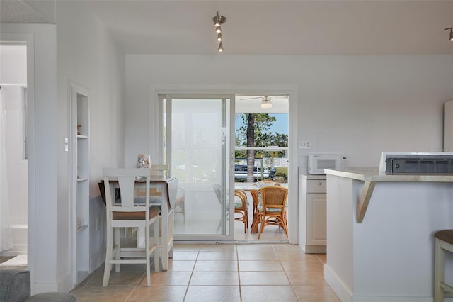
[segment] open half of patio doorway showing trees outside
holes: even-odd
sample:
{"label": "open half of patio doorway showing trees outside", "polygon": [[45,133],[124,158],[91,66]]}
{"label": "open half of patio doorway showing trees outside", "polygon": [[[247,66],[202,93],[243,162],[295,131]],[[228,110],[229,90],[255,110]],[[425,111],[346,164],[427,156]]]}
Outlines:
{"label": "open half of patio doorway showing trees outside", "polygon": [[[289,142],[288,95],[236,95],[234,187],[246,191],[248,230],[235,221],[234,240],[246,242],[287,242],[282,228],[266,226],[258,240],[256,205],[253,191],[260,186],[277,185],[288,188]],[[253,128],[253,129],[251,129]],[[253,173],[251,170],[253,166]],[[256,196],[255,196],[256,198]],[[241,213],[236,213],[236,218]],[[290,230],[289,230],[290,231]]]}

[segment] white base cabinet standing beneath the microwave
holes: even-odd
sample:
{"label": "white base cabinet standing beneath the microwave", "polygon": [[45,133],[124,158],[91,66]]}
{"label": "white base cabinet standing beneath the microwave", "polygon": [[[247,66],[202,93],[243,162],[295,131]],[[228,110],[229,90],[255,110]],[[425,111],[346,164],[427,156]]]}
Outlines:
{"label": "white base cabinet standing beneath the microwave", "polygon": [[325,253],[326,175],[299,175],[299,245],[306,253]]}

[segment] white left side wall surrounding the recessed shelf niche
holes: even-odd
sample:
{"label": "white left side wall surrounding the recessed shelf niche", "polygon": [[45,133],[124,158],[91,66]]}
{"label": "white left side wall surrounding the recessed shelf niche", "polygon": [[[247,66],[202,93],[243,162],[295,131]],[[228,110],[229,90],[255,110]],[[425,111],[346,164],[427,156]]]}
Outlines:
{"label": "white left side wall surrounding the recessed shelf niche", "polygon": [[[103,167],[121,167],[124,159],[125,54],[103,25],[81,6],[57,1],[58,99],[58,252],[57,275],[69,274],[69,80],[90,94],[90,264],[96,269],[105,257],[105,206],[98,181]],[[99,228],[96,229],[96,220]]]}

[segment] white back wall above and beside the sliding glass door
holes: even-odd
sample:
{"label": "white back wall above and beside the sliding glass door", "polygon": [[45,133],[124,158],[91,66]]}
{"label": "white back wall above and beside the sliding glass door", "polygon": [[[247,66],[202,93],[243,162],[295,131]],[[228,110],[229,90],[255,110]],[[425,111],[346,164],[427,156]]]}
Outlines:
{"label": "white back wall above and beside the sliding glass door", "polygon": [[[311,140],[309,151],[343,152],[350,166],[377,167],[382,151],[442,149],[453,55],[127,55],[127,165],[155,137],[150,87],[170,84],[295,86],[298,98],[289,101],[299,103],[298,112],[289,114],[297,140]],[[295,148],[297,165],[306,164],[306,152]]]}

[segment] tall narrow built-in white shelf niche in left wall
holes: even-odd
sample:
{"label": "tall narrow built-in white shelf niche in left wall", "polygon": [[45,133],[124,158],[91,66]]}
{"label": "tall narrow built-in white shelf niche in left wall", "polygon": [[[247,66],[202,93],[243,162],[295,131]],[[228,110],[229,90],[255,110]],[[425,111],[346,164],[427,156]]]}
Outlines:
{"label": "tall narrow built-in white shelf niche in left wall", "polygon": [[89,205],[89,95],[87,89],[70,83],[71,104],[71,225],[73,285],[91,273]]}

